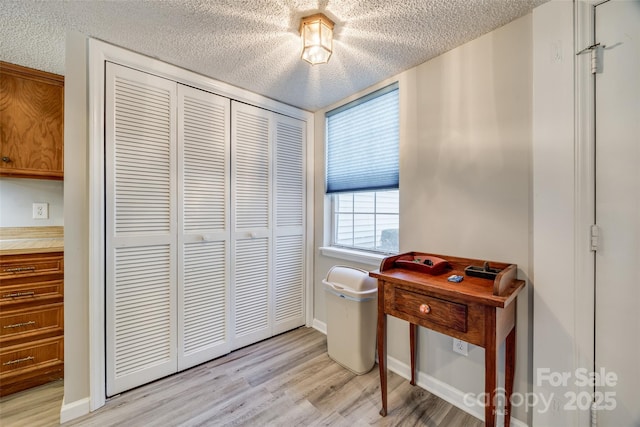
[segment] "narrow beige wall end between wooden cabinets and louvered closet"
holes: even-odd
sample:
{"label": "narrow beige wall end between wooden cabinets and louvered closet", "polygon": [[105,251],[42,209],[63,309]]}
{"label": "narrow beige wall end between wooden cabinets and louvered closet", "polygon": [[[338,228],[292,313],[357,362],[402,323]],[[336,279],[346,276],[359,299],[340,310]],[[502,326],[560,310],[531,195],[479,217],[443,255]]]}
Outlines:
{"label": "narrow beige wall end between wooden cabinets and louvered closet", "polygon": [[64,401],[60,421],[89,412],[89,163],[86,37],[67,33],[64,158]]}

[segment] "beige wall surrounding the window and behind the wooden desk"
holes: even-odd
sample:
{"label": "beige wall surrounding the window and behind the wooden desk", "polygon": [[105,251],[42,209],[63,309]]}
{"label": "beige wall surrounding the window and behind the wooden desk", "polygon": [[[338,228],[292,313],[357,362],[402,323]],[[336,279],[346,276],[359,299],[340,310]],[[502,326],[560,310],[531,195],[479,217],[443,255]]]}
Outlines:
{"label": "beige wall surrounding the window and behind the wooden desk", "polygon": [[[401,251],[505,261],[518,264],[519,278],[532,276],[532,68],[527,15],[397,76]],[[323,236],[324,111],[316,123],[316,236]],[[326,320],[321,279],[328,267],[344,263],[316,257],[320,321]],[[528,293],[518,299],[520,393],[531,389]],[[388,337],[389,356],[408,364],[407,324],[391,323]],[[419,340],[418,369],[427,382],[445,383],[458,397],[484,391],[482,349],[457,355],[451,338],[424,329]],[[514,416],[529,418],[525,407],[515,407]]]}

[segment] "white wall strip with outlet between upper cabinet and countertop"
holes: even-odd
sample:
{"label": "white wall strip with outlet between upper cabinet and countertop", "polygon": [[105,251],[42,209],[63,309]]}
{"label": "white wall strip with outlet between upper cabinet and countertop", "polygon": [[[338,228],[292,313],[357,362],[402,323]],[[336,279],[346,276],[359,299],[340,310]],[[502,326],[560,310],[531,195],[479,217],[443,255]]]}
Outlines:
{"label": "white wall strip with outlet between upper cabinet and countertop", "polygon": [[[0,227],[59,226],[64,223],[63,182],[0,178]],[[33,203],[49,203],[49,219],[33,219]]]}

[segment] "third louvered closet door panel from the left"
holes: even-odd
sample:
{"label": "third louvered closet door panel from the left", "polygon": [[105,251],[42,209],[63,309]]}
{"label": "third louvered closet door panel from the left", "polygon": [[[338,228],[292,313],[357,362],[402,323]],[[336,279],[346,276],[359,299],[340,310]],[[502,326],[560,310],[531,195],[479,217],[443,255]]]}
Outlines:
{"label": "third louvered closet door panel from the left", "polygon": [[231,103],[232,347],[271,336],[271,113]]}

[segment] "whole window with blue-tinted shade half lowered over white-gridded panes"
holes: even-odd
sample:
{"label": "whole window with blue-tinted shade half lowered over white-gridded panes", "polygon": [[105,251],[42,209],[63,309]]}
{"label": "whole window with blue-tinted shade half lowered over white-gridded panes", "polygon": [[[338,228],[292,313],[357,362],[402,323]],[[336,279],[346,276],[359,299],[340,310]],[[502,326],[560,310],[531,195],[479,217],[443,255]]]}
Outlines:
{"label": "whole window with blue-tinted shade half lowered over white-gridded panes", "polygon": [[326,120],[331,245],[398,252],[397,83],[329,111]]}

